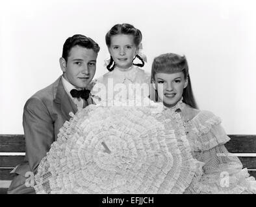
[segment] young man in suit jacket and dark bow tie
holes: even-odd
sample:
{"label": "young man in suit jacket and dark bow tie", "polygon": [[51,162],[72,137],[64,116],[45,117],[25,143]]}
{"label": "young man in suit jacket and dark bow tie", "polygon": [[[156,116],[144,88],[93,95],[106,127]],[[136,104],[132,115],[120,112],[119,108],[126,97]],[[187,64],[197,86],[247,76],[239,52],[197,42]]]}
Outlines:
{"label": "young man in suit jacket and dark bow tie", "polygon": [[35,193],[31,175],[36,174],[40,161],[57,140],[60,127],[70,120],[70,112],[76,113],[77,107],[92,103],[88,86],[96,72],[98,52],[99,45],[91,38],[80,34],[68,38],[60,58],[62,76],[25,103],[26,155],[24,162],[11,172],[16,176],[8,193]]}

